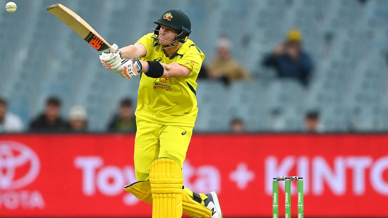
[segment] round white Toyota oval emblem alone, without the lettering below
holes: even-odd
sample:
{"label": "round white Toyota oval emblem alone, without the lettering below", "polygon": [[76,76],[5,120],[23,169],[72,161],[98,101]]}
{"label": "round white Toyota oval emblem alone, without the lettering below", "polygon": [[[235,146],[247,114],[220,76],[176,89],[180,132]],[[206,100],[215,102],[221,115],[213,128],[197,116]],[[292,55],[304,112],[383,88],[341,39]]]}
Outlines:
{"label": "round white Toyota oval emblem alone, without the lettering below", "polygon": [[0,141],[0,190],[29,185],[39,170],[39,158],[32,149],[17,142]]}

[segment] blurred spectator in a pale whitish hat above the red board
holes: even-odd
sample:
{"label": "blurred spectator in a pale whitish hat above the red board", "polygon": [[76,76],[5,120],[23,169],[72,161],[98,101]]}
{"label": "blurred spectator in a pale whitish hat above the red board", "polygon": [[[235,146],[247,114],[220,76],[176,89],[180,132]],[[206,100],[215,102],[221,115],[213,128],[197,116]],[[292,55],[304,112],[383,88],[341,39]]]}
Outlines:
{"label": "blurred spectator in a pale whitish hat above the red board", "polygon": [[87,114],[85,108],[74,106],[69,112],[69,132],[85,133],[87,132]]}

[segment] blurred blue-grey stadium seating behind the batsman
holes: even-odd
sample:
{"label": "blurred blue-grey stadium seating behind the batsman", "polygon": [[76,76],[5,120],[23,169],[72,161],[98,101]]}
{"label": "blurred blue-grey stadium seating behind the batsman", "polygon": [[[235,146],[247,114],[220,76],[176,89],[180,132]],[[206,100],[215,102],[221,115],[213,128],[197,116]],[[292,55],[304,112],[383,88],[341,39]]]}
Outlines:
{"label": "blurred blue-grey stadium seating behind the batsman", "polygon": [[[139,80],[122,79],[100,66],[98,52],[46,11],[51,3],[20,1],[14,14],[0,10],[0,47],[7,63],[0,69],[0,96],[28,124],[45,99],[56,95],[64,117],[71,106],[84,106],[89,130],[104,131],[123,97],[136,103]],[[61,3],[120,47],[149,33],[153,21],[170,8],[190,16],[190,38],[206,54],[205,63],[215,57],[218,36],[229,36],[233,56],[248,67],[251,80],[229,87],[198,80],[195,131],[229,131],[233,118],[241,118],[249,132],[303,131],[305,112],[312,109],[320,112],[325,131],[388,131],[386,0]],[[308,88],[278,80],[260,64],[294,27],[302,31],[304,48],[315,63]]]}

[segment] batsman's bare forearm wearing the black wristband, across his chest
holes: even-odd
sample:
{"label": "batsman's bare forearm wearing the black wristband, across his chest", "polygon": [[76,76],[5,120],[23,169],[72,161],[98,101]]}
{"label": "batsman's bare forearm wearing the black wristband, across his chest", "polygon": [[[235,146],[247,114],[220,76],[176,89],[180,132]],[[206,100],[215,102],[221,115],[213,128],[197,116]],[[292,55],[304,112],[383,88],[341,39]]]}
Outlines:
{"label": "batsman's bare forearm wearing the black wristband, across his chest", "polygon": [[[191,69],[178,64],[164,64],[156,61],[140,61],[142,64],[142,72],[153,78],[178,78],[189,76]],[[159,76],[159,77],[157,77]]]}

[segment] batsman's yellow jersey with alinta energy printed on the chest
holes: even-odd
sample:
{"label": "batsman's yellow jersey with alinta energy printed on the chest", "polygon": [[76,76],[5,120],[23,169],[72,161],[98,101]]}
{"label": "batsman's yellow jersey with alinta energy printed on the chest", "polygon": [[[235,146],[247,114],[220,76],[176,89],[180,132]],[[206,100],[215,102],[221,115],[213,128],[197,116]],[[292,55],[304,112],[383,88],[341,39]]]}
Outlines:
{"label": "batsman's yellow jersey with alinta energy printed on the chest", "polygon": [[[163,49],[154,48],[157,40],[153,33],[137,41],[147,48],[143,61],[176,62],[191,69],[189,76],[182,78],[151,78],[140,73],[140,86],[135,115],[141,119],[161,125],[194,127],[197,118],[196,79],[205,55],[187,39],[176,55],[166,57]],[[158,44],[156,44],[158,45]],[[161,47],[158,45],[158,47]]]}

